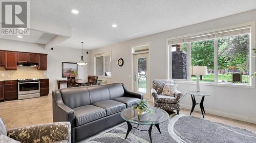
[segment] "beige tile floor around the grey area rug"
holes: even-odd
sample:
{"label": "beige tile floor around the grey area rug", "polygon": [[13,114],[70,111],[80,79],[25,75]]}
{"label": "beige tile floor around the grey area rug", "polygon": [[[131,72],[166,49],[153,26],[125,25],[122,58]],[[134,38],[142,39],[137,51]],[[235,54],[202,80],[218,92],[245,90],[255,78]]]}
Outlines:
{"label": "beige tile floor around the grey area rug", "polygon": [[[152,103],[150,104],[152,105]],[[180,113],[189,114],[190,110],[181,109]],[[202,114],[197,111],[194,111],[192,115],[195,117],[202,117]],[[34,99],[0,102],[0,117],[3,118],[7,129],[51,123],[52,96],[49,94],[49,96]],[[207,110],[205,120],[247,129],[256,133],[256,124],[207,114]]]}

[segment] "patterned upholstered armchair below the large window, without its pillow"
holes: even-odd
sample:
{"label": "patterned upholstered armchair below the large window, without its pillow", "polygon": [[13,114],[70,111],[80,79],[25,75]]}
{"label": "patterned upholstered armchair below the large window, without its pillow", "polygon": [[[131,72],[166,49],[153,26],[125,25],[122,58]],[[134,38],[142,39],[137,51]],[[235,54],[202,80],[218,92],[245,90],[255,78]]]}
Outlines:
{"label": "patterned upholstered armchair below the large window, without its pillow", "polygon": [[153,88],[151,94],[154,97],[154,106],[167,111],[176,110],[177,114],[180,112],[180,98],[182,93],[175,91],[173,96],[162,95],[163,87],[166,83],[174,84],[173,80],[153,80]]}

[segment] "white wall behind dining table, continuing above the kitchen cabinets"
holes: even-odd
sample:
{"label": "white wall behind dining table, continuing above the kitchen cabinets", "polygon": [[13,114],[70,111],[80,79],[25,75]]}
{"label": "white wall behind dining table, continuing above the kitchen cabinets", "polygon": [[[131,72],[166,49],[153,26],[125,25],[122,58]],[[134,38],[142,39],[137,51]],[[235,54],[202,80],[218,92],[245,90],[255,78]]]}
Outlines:
{"label": "white wall behind dining table, continuing above the kitchen cabinets", "polygon": [[[71,49],[66,47],[54,47],[54,50],[46,50],[44,44],[36,44],[29,42],[21,42],[14,40],[0,39],[0,50],[20,51],[20,52],[34,52],[48,54],[47,62],[47,78],[50,81],[50,93],[57,89],[57,79],[61,78],[62,62],[78,62],[81,58],[80,49]],[[89,54],[83,51],[84,58],[89,62]],[[78,66],[79,79],[87,78],[89,72],[89,65]],[[29,73],[28,73],[29,74]]]}

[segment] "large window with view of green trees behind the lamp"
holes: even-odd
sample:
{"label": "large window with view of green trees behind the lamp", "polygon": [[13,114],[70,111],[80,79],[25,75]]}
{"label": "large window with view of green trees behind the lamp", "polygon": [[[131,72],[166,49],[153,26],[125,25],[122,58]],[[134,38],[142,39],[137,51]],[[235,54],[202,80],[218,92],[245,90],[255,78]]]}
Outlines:
{"label": "large window with view of green trees behind the lamp", "polygon": [[200,81],[250,84],[250,36],[246,26],[169,40],[169,77],[196,81],[190,68],[198,65],[207,66]]}

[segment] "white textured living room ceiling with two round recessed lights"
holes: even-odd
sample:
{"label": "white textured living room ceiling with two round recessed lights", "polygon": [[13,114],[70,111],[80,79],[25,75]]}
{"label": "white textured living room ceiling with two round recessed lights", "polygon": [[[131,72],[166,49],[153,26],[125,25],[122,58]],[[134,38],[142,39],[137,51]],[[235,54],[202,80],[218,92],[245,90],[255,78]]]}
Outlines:
{"label": "white textured living room ceiling with two round recessed lights", "polygon": [[[59,46],[95,49],[256,9],[255,0],[33,0],[33,18],[72,28]],[[72,9],[79,14],[71,13]],[[112,28],[113,23],[117,28]]]}

